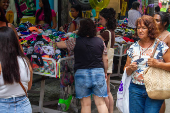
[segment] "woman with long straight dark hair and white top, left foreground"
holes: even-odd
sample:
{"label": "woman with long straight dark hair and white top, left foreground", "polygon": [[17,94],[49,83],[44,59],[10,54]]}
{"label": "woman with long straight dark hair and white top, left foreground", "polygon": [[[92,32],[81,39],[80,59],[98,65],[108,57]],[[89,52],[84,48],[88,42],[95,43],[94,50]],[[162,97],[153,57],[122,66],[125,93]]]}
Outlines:
{"label": "woman with long straight dark hair and white top, left foreground", "polygon": [[32,113],[27,90],[32,68],[10,27],[0,27],[0,113]]}

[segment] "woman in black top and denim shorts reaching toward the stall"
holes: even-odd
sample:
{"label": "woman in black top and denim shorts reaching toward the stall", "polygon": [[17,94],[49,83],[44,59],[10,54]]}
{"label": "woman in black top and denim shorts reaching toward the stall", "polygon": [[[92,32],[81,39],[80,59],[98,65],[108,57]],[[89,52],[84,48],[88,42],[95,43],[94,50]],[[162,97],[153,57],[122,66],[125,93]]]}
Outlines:
{"label": "woman in black top and denim shorts reaching toward the stall", "polygon": [[76,98],[81,99],[81,113],[91,113],[91,95],[99,113],[108,113],[107,49],[101,38],[96,37],[96,26],[91,19],[80,20],[78,38],[56,43],[59,48],[74,50]]}

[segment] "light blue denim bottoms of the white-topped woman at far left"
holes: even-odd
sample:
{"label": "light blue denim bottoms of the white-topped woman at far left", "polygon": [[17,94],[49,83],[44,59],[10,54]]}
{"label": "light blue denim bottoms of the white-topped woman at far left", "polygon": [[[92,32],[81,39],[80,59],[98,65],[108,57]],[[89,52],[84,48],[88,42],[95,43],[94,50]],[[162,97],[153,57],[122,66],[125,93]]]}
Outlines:
{"label": "light blue denim bottoms of the white-topped woman at far left", "polygon": [[32,113],[32,108],[26,96],[0,98],[0,113]]}

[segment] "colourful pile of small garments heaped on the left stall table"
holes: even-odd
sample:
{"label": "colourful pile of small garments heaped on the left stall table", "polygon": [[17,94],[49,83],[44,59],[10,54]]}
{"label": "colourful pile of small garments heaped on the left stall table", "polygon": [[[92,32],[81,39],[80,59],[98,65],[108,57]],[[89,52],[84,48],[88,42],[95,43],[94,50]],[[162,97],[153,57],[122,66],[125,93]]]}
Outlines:
{"label": "colourful pile of small garments heaped on the left stall table", "polygon": [[46,74],[54,74],[55,66],[50,60],[43,60],[44,57],[57,62],[68,56],[67,49],[57,48],[56,42],[76,38],[73,33],[65,34],[48,25],[34,26],[29,22],[20,24],[16,30],[25,55],[33,62],[33,71]]}

